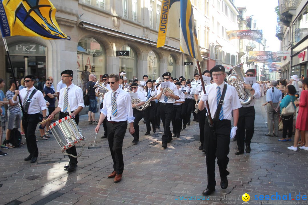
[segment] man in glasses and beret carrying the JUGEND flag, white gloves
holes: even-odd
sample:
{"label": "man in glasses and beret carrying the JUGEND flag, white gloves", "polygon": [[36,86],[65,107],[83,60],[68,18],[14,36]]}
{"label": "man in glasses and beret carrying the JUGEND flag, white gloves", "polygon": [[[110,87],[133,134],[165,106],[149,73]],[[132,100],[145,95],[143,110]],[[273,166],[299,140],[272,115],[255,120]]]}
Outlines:
{"label": "man in glasses and beret carrying the JUGEND flag, white gloves", "polygon": [[[229,144],[230,139],[233,139],[236,134],[238,109],[241,108],[241,102],[238,99],[237,92],[234,87],[224,83],[226,77],[225,67],[222,65],[215,65],[211,70],[213,80],[215,83],[205,87],[207,94],[202,93],[200,102],[198,104],[199,110],[206,108],[205,101],[208,101],[212,117],[214,116],[214,128],[209,126],[209,120],[205,121],[204,135],[206,147],[206,169],[208,185],[202,192],[203,195],[208,196],[215,191],[215,159],[219,167],[219,174],[221,178],[220,186],[222,189],[228,187],[227,165],[229,163]],[[221,95],[226,89],[224,100],[221,101]],[[222,104],[221,110],[217,115],[215,112],[217,106]],[[233,113],[233,125],[231,129],[231,112]],[[208,115],[208,114],[207,114]],[[209,116],[208,116],[209,118]],[[214,130],[214,131],[212,131]]]}

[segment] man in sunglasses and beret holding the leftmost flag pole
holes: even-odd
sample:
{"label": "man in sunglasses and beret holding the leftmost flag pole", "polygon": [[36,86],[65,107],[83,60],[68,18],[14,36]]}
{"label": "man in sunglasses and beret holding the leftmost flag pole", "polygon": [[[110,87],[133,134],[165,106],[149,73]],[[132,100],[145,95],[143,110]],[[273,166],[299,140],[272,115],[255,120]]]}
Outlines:
{"label": "man in sunglasses and beret holding the leftmost flag pole", "polygon": [[[21,105],[23,106],[24,112],[22,116],[22,126],[25,129],[25,137],[27,142],[27,148],[30,155],[24,160],[31,163],[37,161],[39,156],[39,149],[36,144],[35,129],[39,123],[39,114],[42,110],[43,120],[47,119],[46,116],[46,103],[43,93],[34,88],[35,77],[33,75],[27,75],[24,78],[25,88],[15,90],[13,97],[13,103],[18,103],[18,95],[20,94]],[[32,94],[34,93],[34,94]],[[44,127],[46,123],[42,124]]]}

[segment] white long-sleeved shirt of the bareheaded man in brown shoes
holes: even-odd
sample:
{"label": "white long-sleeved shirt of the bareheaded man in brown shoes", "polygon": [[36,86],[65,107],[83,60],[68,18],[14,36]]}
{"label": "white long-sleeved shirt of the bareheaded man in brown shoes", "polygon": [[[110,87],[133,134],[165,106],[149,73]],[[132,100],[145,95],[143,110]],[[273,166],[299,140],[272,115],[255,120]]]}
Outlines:
{"label": "white long-sleeved shirt of the bareheaded man in brown shoes", "polygon": [[129,123],[134,122],[132,100],[128,92],[118,88],[115,91],[117,115],[112,115],[112,90],[104,96],[103,108],[100,110],[104,116],[107,116],[108,121],[121,122],[128,120]]}

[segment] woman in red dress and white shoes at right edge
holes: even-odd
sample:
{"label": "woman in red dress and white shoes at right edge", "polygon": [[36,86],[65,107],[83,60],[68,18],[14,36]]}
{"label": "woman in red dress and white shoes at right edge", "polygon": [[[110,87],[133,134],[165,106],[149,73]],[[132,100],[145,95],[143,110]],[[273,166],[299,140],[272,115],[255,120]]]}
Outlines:
{"label": "woman in red dress and white shoes at right edge", "polygon": [[308,151],[308,78],[303,80],[303,91],[300,96],[299,102],[295,102],[296,106],[299,106],[298,116],[295,126],[294,145],[288,147],[288,149],[297,151],[297,143],[300,135],[300,131],[305,131],[305,145],[299,147],[300,149]]}

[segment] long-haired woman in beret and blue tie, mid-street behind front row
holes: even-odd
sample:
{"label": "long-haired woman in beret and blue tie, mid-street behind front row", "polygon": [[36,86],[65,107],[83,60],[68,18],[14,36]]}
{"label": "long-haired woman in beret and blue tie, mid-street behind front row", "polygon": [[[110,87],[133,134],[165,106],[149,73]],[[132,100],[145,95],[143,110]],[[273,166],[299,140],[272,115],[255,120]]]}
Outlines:
{"label": "long-haired woman in beret and blue tie, mid-street behind front row", "polygon": [[[145,96],[145,101],[148,101],[150,97],[155,95],[155,88],[153,85],[153,81],[150,79],[146,82],[146,87],[144,88],[143,94]],[[153,127],[153,132],[156,132],[156,126],[155,126],[155,108],[156,108],[156,103],[155,103],[156,97],[153,97],[152,100],[150,101],[151,106],[148,106],[144,110],[144,118],[146,121],[147,125],[147,132],[144,133],[144,135],[149,135],[151,131],[151,124]],[[135,129],[136,130],[136,129]]]}

